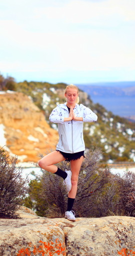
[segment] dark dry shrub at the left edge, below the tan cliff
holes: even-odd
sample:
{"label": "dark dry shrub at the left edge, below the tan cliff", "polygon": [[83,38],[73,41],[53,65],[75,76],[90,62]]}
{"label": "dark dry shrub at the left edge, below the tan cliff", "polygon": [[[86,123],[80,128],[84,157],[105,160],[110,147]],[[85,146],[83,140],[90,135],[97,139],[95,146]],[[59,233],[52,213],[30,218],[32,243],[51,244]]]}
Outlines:
{"label": "dark dry shrub at the left edge, below the tan cliff", "polygon": [[26,193],[27,178],[21,177],[22,169],[16,168],[16,157],[9,158],[0,149],[0,217],[16,218],[16,210],[22,205]]}

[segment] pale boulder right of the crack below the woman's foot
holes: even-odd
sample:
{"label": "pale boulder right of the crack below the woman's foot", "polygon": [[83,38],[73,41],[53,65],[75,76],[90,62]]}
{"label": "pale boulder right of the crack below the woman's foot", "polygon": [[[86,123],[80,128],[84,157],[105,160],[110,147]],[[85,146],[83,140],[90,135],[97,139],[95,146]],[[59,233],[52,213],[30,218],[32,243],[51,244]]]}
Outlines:
{"label": "pale boulder right of the crack below the woman's foot", "polygon": [[134,255],[134,245],[133,217],[84,218],[66,235],[67,256]]}

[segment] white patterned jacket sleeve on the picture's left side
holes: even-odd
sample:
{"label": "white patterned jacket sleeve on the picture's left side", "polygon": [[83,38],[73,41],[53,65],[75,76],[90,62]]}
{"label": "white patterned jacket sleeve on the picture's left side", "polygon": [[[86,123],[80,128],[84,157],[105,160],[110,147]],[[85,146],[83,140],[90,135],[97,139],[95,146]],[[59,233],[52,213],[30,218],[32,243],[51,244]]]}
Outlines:
{"label": "white patterned jacket sleeve on the picture's left side", "polygon": [[63,123],[64,117],[62,116],[61,109],[56,106],[49,115],[49,121],[54,123]]}

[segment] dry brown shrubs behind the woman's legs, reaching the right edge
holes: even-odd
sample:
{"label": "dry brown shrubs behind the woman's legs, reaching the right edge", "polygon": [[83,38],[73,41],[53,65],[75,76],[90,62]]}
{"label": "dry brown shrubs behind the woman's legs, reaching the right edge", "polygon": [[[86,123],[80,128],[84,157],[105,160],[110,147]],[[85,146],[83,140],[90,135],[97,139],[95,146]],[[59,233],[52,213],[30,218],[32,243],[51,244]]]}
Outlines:
{"label": "dry brown shrubs behind the woman's legs, reaching the right edge", "polygon": [[[75,216],[135,216],[135,174],[125,172],[122,177],[113,175],[108,166],[102,167],[100,157],[99,149],[87,150],[85,154],[73,205]],[[57,164],[57,167],[70,170],[70,164],[66,161]],[[45,205],[47,203],[44,216],[63,217],[67,206],[67,193],[65,186],[62,185],[63,179],[47,171],[42,170],[42,172],[42,176],[36,179],[41,188],[40,195],[39,188],[37,194],[39,198],[43,198]],[[42,214],[44,205],[39,205],[37,199],[34,203],[38,207],[38,212]]]}

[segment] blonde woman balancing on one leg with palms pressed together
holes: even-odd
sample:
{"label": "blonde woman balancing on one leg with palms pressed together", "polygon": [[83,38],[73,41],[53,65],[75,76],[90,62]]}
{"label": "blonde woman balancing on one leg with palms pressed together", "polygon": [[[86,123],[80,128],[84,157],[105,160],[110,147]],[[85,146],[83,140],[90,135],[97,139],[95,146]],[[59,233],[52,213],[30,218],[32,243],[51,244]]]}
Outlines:
{"label": "blonde woman balancing on one leg with palms pressed together", "polygon": [[[97,115],[88,107],[78,105],[78,88],[68,85],[64,96],[66,103],[57,105],[49,116],[49,121],[57,123],[59,141],[54,152],[39,160],[39,167],[64,179],[68,193],[65,218],[74,221],[75,214],[71,210],[77,191],[79,170],[84,158],[83,122],[95,122]],[[55,166],[63,160],[70,162],[71,171],[62,171]]]}

